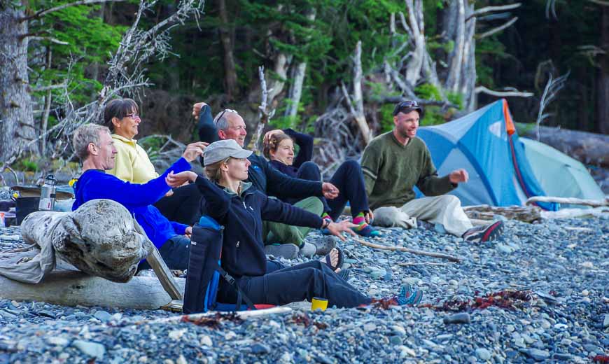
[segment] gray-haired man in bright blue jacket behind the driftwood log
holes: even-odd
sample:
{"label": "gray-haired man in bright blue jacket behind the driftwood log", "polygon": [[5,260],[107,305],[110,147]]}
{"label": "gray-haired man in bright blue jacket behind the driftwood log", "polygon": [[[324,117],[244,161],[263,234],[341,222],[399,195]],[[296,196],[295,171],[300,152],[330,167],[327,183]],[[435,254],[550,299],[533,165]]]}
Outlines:
{"label": "gray-haired man in bright blue jacket behind the driftwood log", "polygon": [[[76,201],[72,210],[90,200],[108,199],[122,204],[134,216],[144,232],[159,249],[160,255],[170,269],[187,269],[190,252],[189,236],[193,228],[167,220],[152,204],[171,190],[167,185],[169,172],[190,170],[190,163],[203,154],[201,142],[188,145],[182,158],[177,160],[164,174],[144,184],[129,183],[106,174],[114,166],[116,148],[107,127],[87,124],[74,132],[73,148],[83,161],[83,174],[74,186]],[[142,262],[141,268],[148,268]]]}

